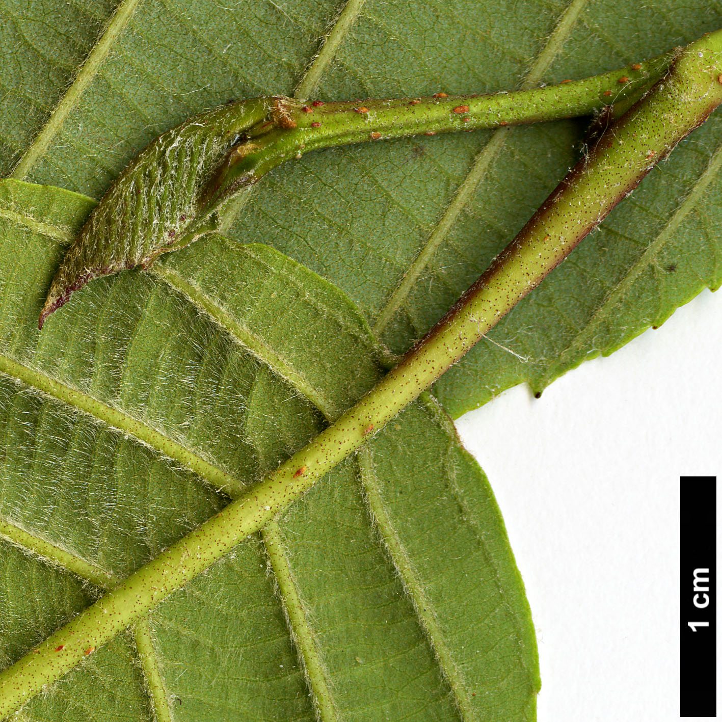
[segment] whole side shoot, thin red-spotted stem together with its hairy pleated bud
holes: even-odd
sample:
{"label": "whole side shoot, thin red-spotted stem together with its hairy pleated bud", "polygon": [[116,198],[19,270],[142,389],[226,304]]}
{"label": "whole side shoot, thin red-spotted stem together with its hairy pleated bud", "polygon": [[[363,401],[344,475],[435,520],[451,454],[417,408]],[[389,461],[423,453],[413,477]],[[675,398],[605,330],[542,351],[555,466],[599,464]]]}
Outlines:
{"label": "whole side shoot, thin red-spotted stem together with its hairy pleated bud", "polygon": [[291,158],[349,143],[589,115],[644,92],[672,58],[497,95],[307,105],[259,97],[191,118],[149,144],[110,186],[66,253],[38,327],[90,280],[147,269],[163,253],[219,230],[232,199]]}

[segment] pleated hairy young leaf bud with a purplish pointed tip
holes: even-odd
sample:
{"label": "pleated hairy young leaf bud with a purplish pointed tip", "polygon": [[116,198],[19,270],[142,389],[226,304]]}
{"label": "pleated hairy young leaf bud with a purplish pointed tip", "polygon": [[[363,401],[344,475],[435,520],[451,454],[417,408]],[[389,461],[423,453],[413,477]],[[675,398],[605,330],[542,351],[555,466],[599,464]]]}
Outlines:
{"label": "pleated hairy young leaf bud with a purplish pointed tip", "polygon": [[[223,105],[162,134],[110,186],[66,253],[38,326],[90,280],[147,267],[175,250],[198,221],[196,199],[239,134],[266,116],[270,99]],[[212,219],[209,219],[212,230]],[[200,230],[200,229],[199,229]]]}

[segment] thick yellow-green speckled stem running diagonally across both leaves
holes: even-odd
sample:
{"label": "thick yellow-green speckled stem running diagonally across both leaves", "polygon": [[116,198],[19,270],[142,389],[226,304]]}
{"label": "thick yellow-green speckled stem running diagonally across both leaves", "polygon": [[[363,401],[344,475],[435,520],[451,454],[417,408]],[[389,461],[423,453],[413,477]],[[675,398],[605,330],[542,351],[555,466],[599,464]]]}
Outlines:
{"label": "thick yellow-green speckled stem running diagonally across both leaves", "polygon": [[0,718],[262,529],[474,346],[722,101],[722,31],[600,137],[461,300],[372,391],[264,481],[0,673]]}

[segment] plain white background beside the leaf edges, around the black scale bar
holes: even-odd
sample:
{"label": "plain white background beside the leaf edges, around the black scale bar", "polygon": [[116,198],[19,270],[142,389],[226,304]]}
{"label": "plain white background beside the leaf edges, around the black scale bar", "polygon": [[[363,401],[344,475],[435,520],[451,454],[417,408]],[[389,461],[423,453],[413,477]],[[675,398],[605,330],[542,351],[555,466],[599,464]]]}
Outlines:
{"label": "plain white background beside the leaf edges, around the black scale bar", "polygon": [[679,477],[722,480],[721,368],[705,291],[541,399],[518,386],[458,420],[526,584],[539,722],[679,720]]}

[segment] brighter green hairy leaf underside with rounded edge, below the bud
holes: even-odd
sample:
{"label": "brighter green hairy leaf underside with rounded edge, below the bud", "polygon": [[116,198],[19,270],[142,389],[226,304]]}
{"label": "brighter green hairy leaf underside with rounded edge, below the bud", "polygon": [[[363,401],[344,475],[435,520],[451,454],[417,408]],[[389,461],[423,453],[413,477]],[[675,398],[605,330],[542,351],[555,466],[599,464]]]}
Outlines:
{"label": "brighter green hairy leaf underside with rounded edge, below the bud", "polygon": [[[222,236],[152,277],[96,281],[39,334],[92,206],[0,183],[0,533],[20,547],[0,547],[6,663],[221,508],[213,486],[233,494],[274,469],[380,375],[344,295]],[[24,713],[140,720],[165,700],[178,719],[291,719],[316,700],[324,719],[523,720],[536,669],[490,489],[429,397]]]}

